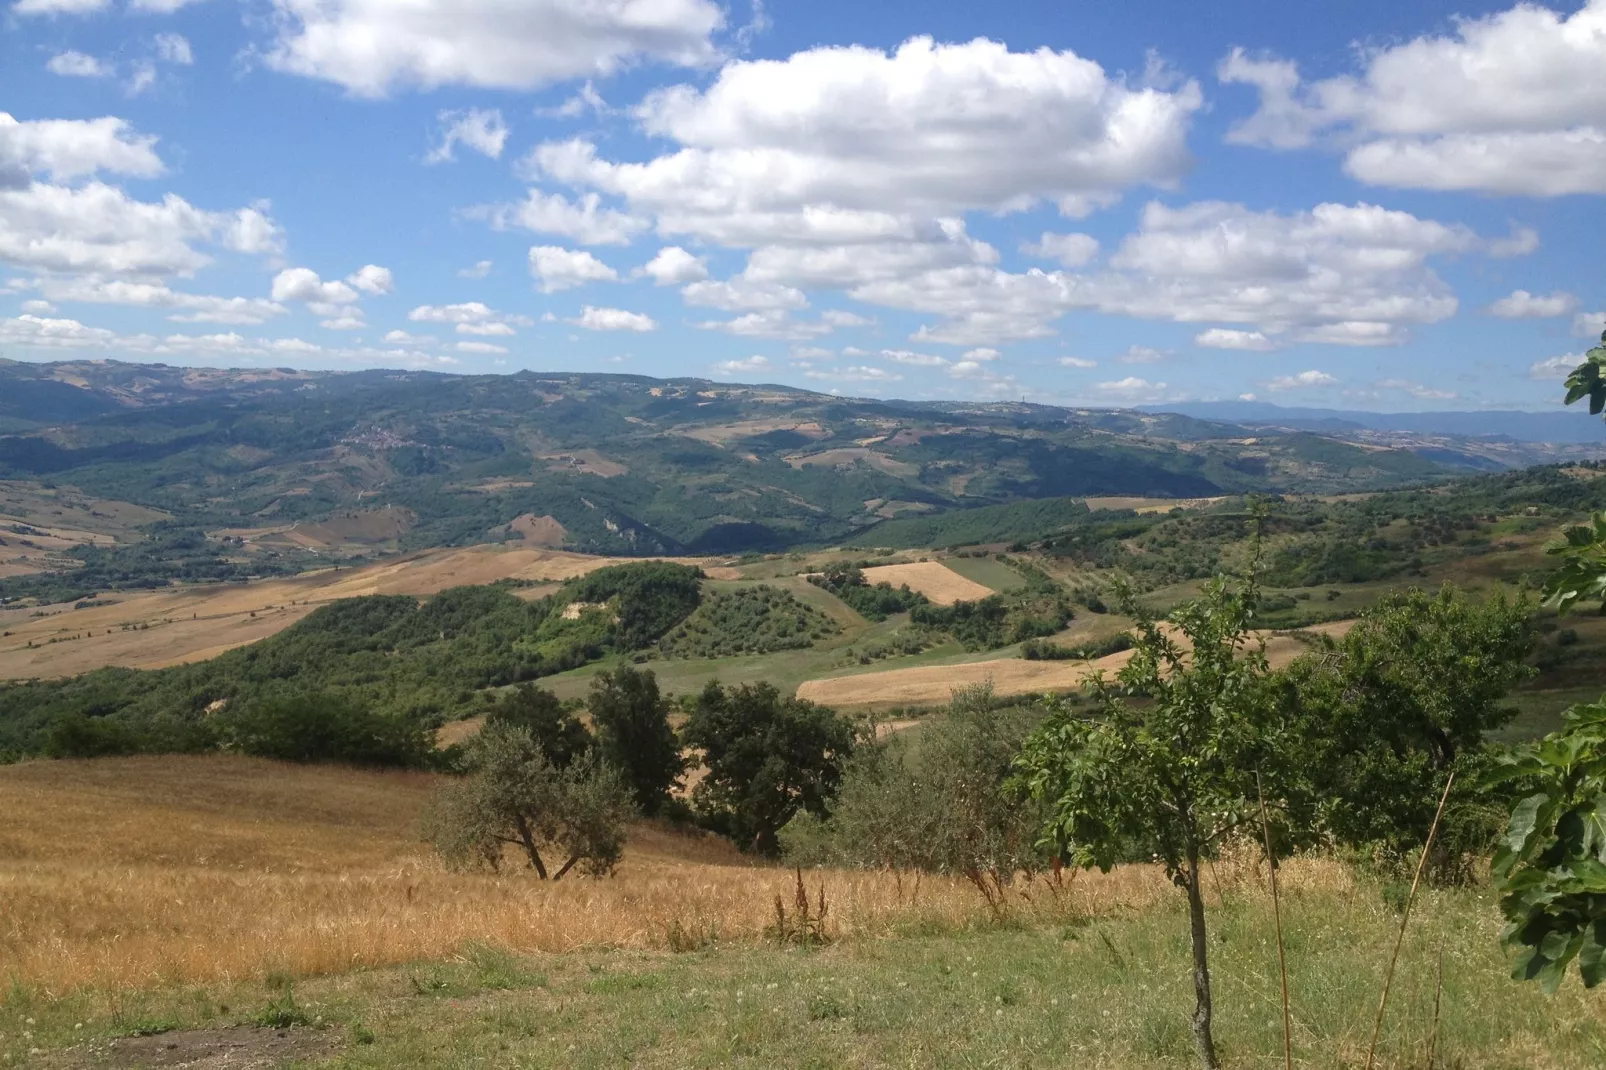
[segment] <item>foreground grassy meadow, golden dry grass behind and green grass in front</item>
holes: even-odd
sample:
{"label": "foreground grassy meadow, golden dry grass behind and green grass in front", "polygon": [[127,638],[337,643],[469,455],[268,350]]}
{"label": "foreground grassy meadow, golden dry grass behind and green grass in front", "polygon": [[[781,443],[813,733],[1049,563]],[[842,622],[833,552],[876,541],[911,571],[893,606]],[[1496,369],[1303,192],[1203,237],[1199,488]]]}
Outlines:
{"label": "foreground grassy meadow, golden dry grass behind and green grass in front", "polygon": [[[827,941],[789,946],[790,871],[660,826],[610,880],[448,874],[413,831],[430,789],[230,757],[0,770],[0,1064],[1193,1065],[1185,913],[1152,868],[999,913],[962,880],[806,871]],[[1397,895],[1333,860],[1280,874],[1296,1064],[1360,1067]],[[1264,864],[1211,877],[1225,1065],[1280,1065]],[[1497,930],[1487,890],[1425,893],[1378,1065],[1606,1062],[1606,996],[1508,980]]]}

